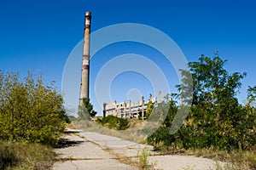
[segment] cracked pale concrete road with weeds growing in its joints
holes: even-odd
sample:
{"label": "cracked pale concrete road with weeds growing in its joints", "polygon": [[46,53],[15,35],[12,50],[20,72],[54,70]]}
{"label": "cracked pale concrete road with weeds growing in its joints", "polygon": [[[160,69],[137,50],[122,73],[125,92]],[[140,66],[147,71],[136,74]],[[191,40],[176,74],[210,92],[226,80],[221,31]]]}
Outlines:
{"label": "cracked pale concrete road with weeds growing in its joints", "polygon": [[216,167],[215,161],[210,159],[195,156],[159,156],[153,151],[153,146],[100,133],[69,130],[65,138],[66,144],[55,149],[59,154],[59,161],[55,162],[54,170],[139,169],[134,165],[137,165],[137,156],[143,148],[150,153],[148,165],[154,169],[206,170]]}

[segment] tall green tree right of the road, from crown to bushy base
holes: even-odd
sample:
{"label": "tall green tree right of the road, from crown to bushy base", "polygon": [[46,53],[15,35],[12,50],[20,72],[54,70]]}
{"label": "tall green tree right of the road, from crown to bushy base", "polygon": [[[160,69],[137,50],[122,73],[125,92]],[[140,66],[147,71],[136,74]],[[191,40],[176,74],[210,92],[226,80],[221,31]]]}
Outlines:
{"label": "tall green tree right of the road, from crown to bushy base", "polygon": [[244,144],[247,112],[238,103],[236,94],[246,73],[230,74],[224,69],[226,63],[218,52],[212,58],[201,55],[199,61],[189,63],[194,99],[187,122],[180,131],[187,147],[212,145],[225,149]]}

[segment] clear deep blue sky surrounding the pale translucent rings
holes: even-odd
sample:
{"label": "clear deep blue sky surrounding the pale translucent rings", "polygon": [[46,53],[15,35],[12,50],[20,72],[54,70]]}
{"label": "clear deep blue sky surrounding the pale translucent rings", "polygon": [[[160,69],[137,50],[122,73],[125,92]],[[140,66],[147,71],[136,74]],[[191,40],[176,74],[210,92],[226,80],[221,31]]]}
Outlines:
{"label": "clear deep blue sky surrounding the pale translucent rings", "polygon": [[[226,68],[230,73],[247,72],[238,94],[242,102],[247,86],[256,85],[255,6],[254,0],[1,0],[0,69],[19,71],[21,76],[31,70],[42,73],[47,82],[55,80],[61,91],[64,65],[83,38],[84,12],[91,11],[92,31],[119,23],[153,26],[172,37],[189,61],[195,61],[200,54],[212,56],[218,50],[229,60]],[[106,54],[98,55],[104,55],[108,61],[117,50],[119,54],[142,54],[145,49],[137,45],[140,51],[137,52],[134,45],[126,45],[126,48],[113,45]],[[91,62],[92,75],[98,61],[100,57]],[[134,74],[130,77],[137,77]],[[119,101],[125,96],[119,95],[122,90],[118,90],[124,86],[121,82],[128,83],[124,80],[116,77],[111,88],[119,92],[113,92],[112,96]],[[142,88],[141,84],[131,84],[128,88]],[[147,95],[144,93],[148,91],[142,93]]]}

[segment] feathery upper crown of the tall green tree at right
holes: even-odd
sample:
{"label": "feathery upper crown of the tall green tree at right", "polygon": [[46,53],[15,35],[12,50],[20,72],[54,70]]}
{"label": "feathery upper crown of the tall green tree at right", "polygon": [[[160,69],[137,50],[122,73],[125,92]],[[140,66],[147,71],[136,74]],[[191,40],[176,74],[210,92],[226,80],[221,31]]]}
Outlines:
{"label": "feathery upper crown of the tall green tree at right", "polygon": [[241,88],[241,79],[246,73],[229,74],[224,69],[227,60],[218,52],[211,58],[201,55],[198,62],[190,62],[189,68],[194,80],[194,104],[200,102],[218,105],[226,99],[234,99],[236,90]]}

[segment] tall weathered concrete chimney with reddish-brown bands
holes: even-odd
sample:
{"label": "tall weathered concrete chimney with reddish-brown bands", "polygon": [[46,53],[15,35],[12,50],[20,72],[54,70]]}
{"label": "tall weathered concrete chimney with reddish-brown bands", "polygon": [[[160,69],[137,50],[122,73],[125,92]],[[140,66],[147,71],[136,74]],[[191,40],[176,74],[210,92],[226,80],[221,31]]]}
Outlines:
{"label": "tall weathered concrete chimney with reddish-brown bands", "polygon": [[80,85],[79,104],[82,105],[84,98],[89,98],[89,70],[90,70],[90,12],[85,13],[84,21],[84,51],[82,59],[82,77]]}

